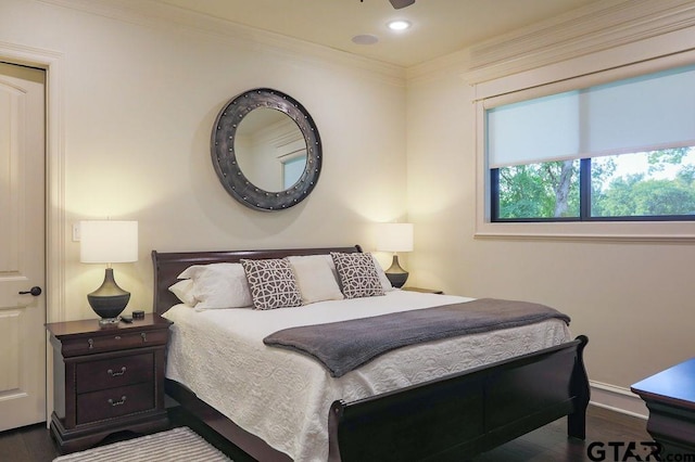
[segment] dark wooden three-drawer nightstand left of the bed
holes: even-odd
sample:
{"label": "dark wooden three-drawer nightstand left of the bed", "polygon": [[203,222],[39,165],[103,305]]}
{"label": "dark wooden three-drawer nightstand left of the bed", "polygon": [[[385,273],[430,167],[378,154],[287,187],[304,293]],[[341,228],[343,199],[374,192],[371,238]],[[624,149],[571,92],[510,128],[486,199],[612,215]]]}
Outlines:
{"label": "dark wooden three-drawer nightstand left of the bed", "polygon": [[106,328],[97,319],[46,324],[53,346],[51,435],[61,452],[86,449],[115,432],[168,426],[164,368],[170,324],[157,315]]}

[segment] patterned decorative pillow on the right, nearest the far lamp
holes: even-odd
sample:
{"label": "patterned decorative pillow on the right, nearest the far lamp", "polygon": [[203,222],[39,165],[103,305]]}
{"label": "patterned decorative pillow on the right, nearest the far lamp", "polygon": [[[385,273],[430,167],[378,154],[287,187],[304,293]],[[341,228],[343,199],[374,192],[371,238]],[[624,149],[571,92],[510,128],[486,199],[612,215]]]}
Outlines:
{"label": "patterned decorative pillow on the right, nearest the far lamp", "polygon": [[345,298],[383,295],[383,286],[371,254],[331,252]]}

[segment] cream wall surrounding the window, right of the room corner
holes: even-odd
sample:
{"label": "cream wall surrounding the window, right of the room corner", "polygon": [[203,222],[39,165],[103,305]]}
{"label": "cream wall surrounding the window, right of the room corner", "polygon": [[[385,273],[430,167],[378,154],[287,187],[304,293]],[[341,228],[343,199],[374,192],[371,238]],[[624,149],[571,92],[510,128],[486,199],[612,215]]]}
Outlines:
{"label": "cream wall surrounding the window, right of the room corner", "polygon": [[[630,12],[624,15],[630,16]],[[549,48],[554,37],[548,35],[544,46]],[[579,39],[584,49],[577,55],[586,53],[592,43],[591,35]],[[666,34],[658,40],[671,51],[688,42],[669,43]],[[520,42],[507,38],[504,44]],[[649,46],[653,42],[645,40]],[[636,46],[633,48],[648,49]],[[630,385],[691,358],[695,351],[693,240],[476,238],[480,193],[476,171],[481,167],[476,157],[476,93],[467,78],[471,72],[484,76],[501,73],[505,66],[519,66],[525,57],[519,50],[509,52],[503,47],[495,51],[509,53],[507,60],[496,61],[490,68],[473,68],[480,59],[476,51],[430,63],[426,69],[410,69],[408,215],[417,227],[416,252],[408,265],[412,283],[473,297],[534,300],[567,312],[573,334],[586,334],[590,339],[586,364],[595,385],[594,399],[645,413],[641,401],[630,396]],[[547,70],[547,60],[539,57],[540,46],[526,52],[528,61],[535,60],[539,65],[519,72],[538,77]],[[626,399],[629,402],[623,402]]]}

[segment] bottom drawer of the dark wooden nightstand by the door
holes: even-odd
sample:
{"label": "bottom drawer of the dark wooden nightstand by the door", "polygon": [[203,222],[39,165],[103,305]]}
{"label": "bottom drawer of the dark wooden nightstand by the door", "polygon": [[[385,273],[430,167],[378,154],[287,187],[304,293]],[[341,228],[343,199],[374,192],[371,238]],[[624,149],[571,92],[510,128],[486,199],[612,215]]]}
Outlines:
{"label": "bottom drawer of the dark wooden nightstand by the door", "polygon": [[77,425],[154,409],[154,383],[77,396]]}

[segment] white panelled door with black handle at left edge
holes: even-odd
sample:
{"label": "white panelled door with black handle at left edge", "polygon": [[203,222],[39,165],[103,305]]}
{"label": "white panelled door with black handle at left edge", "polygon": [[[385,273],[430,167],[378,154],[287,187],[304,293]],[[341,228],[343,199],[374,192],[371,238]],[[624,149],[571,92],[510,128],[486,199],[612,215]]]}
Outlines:
{"label": "white panelled door with black handle at left edge", "polygon": [[0,63],[0,432],[46,421],[45,81]]}

